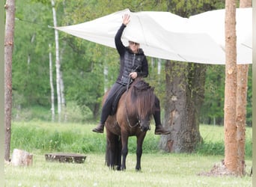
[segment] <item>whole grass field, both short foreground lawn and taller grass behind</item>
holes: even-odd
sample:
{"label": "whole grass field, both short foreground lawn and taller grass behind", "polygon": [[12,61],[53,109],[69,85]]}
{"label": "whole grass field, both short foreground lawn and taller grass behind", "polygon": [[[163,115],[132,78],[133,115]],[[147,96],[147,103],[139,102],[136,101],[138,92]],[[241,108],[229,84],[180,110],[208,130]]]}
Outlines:
{"label": "whole grass field, both short foreground lawn and taller grass behind", "polygon": [[[127,156],[127,171],[109,170],[105,165],[105,135],[92,133],[93,127],[94,125],[15,123],[12,149],[28,150],[34,154],[34,162],[28,168],[5,165],[5,186],[252,186],[252,177],[248,175],[245,177],[198,175],[210,171],[213,165],[219,165],[224,159],[223,126],[201,126],[201,136],[205,145],[199,148],[198,153],[193,154],[162,153],[157,150],[159,136],[153,135],[151,130],[144,142],[146,150],[141,158],[141,172],[135,171],[133,139],[129,143],[131,150],[129,149]],[[42,138],[43,140],[40,140]],[[84,138],[83,144],[89,144],[88,147],[94,144],[97,149],[79,149],[78,147],[83,146],[82,141],[76,139],[80,138]],[[36,143],[33,143],[34,141]],[[252,143],[252,129],[246,129],[246,141],[249,142],[247,144]],[[55,147],[51,142],[55,142]],[[45,149],[40,150],[40,147]],[[74,150],[80,150],[76,153],[87,156],[85,163],[46,162],[44,159],[44,153],[49,151],[75,152],[70,150],[70,147],[76,147]],[[247,150],[249,155],[246,156],[246,172],[248,173],[252,167],[250,152],[251,150]]]}

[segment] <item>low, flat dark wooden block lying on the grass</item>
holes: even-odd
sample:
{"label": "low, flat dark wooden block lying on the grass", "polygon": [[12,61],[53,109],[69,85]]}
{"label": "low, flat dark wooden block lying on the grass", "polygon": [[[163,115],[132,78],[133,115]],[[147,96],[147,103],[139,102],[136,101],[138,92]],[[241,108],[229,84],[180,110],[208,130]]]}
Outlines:
{"label": "low, flat dark wooden block lying on the grass", "polygon": [[86,156],[76,153],[47,153],[45,154],[46,161],[53,162],[72,162],[72,163],[84,163]]}

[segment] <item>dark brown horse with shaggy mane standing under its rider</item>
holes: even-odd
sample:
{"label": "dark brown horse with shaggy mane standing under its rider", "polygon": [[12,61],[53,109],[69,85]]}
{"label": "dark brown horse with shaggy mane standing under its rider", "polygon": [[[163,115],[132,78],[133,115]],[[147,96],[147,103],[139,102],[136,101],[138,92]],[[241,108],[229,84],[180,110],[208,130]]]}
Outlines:
{"label": "dark brown horse with shaggy mane standing under its rider", "polygon": [[[107,93],[106,93],[107,94]],[[142,144],[150,117],[155,111],[153,88],[142,79],[135,79],[129,90],[123,93],[115,115],[106,120],[106,165],[118,170],[126,169],[128,138],[137,138],[136,171],[141,170]]]}

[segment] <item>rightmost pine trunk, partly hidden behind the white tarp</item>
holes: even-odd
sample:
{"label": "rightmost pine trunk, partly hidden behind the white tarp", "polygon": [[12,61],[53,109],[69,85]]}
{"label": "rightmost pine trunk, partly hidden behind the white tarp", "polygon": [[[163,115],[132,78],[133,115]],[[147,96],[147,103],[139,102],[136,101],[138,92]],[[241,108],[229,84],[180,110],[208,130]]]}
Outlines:
{"label": "rightmost pine trunk, partly hidden behind the white tarp", "polygon": [[[252,7],[251,0],[240,0],[240,8]],[[246,99],[249,64],[237,65],[237,154],[239,175],[246,174]]]}

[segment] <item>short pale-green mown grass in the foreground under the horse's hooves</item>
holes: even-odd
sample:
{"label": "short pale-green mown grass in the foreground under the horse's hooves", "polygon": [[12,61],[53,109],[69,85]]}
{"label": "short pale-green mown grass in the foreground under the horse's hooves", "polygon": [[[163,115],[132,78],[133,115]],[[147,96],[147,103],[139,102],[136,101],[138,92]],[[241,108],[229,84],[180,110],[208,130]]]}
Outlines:
{"label": "short pale-green mown grass in the foreground under the horse's hooves", "polygon": [[[31,167],[6,165],[5,186],[252,186],[252,177],[204,177],[222,156],[146,153],[141,172],[135,171],[135,154],[127,156],[127,171],[111,171],[104,154],[86,154],[84,164],[46,162],[34,155]],[[246,160],[248,167],[252,161]],[[249,168],[247,168],[247,171]]]}

